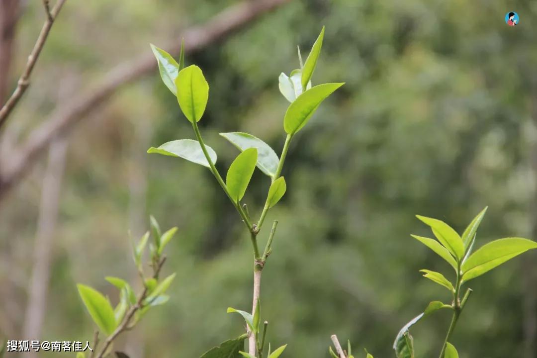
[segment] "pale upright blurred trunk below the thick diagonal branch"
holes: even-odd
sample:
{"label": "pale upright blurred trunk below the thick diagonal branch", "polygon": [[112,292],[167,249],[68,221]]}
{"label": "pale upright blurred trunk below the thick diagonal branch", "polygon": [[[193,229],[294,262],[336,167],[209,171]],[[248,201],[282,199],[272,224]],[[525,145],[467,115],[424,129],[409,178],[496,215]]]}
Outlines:
{"label": "pale upright blurred trunk below the thick diagonal branch", "polygon": [[[48,152],[48,164],[43,177],[38,228],[35,236],[32,277],[28,290],[28,303],[22,335],[25,339],[41,338],[66,152],[67,140],[65,138],[54,141]],[[37,353],[32,351],[27,353],[26,357],[37,357]]]}

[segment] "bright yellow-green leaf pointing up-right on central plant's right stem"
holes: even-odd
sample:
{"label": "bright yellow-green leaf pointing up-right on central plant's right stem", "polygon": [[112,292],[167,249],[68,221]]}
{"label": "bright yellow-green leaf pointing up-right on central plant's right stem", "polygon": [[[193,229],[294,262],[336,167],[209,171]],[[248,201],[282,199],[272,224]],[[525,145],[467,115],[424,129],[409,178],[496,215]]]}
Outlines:
{"label": "bright yellow-green leaf pointing up-right on central plant's right stem", "polygon": [[330,94],[344,83],[325,83],[302,93],[300,97],[287,108],[284,117],[284,129],[287,134],[295,134],[306,125],[317,108]]}

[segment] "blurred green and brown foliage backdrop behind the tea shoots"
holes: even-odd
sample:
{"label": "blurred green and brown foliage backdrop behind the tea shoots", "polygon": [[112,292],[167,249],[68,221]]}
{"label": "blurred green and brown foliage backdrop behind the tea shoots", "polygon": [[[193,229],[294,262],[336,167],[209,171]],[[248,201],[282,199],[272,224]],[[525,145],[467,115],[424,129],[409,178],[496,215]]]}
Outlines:
{"label": "blurred green and brown foliage backdrop behind the tea shoots", "polygon": [[[235,3],[68,0],[1,133],[4,166],[33,129],[108,70]],[[20,6],[8,92],[44,20],[40,1]],[[508,11],[519,13],[516,27],[505,24]],[[322,25],[313,82],[346,82],[295,136],[282,172],[287,193],[259,236],[264,245],[279,221],[262,286],[272,346],[288,343],[288,357],[328,357],[336,333],[354,343],[356,356],[364,347],[394,356],[400,327],[430,301],[450,299],[418,272],[453,278],[409,236],[431,235],[415,214],[462,232],[489,206],[478,246],[537,237],[536,21],[537,3],[529,1],[292,0],[187,55],[211,87],[200,126],[221,173],[238,152],[219,132],[246,131],[281,151],[288,103],[278,75],[299,66],[296,45],[305,59]],[[117,302],[104,276],[136,282],[128,232],[140,237],[153,214],[163,229],[179,228],[164,269],[177,272],[172,297],[116,348],[138,358],[197,357],[243,332],[226,308],[251,306],[248,235],[204,167],[146,154],[193,138],[157,70],[109,97],[0,199],[0,337],[91,340],[76,283]],[[253,216],[269,185],[256,171],[244,200]],[[461,357],[537,357],[536,255],[470,287],[452,339]],[[30,309],[32,290],[41,292],[38,311]],[[449,319],[439,312],[413,328],[419,357],[438,354]],[[32,329],[39,337],[25,337]]]}

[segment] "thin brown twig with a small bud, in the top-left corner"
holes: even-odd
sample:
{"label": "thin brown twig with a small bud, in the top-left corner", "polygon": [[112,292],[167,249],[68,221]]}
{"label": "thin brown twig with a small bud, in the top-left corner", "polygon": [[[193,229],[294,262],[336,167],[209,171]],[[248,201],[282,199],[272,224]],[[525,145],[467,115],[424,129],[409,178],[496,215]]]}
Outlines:
{"label": "thin brown twig with a small bud, in the top-left corner", "polygon": [[50,11],[48,0],[43,0],[43,3],[45,3],[45,10],[47,11],[47,20],[41,28],[41,33],[39,34],[37,41],[35,41],[35,45],[30,53],[30,56],[28,56],[26,67],[23,71],[23,74],[20,75],[19,81],[17,82],[17,88],[13,94],[11,94],[11,97],[8,99],[8,101],[6,101],[2,109],[0,109],[0,128],[2,128],[6,120],[8,120],[8,116],[10,115],[11,111],[13,111],[13,108],[15,108],[19,99],[23,96],[24,92],[30,85],[30,75],[32,75],[35,62],[37,62],[39,54],[41,53],[43,46],[45,46],[45,41],[47,41],[50,28],[52,28],[52,24],[54,24],[54,20],[56,19],[57,14],[60,12],[65,2],[66,0],[57,0],[56,5],[54,5],[54,8],[52,11]]}

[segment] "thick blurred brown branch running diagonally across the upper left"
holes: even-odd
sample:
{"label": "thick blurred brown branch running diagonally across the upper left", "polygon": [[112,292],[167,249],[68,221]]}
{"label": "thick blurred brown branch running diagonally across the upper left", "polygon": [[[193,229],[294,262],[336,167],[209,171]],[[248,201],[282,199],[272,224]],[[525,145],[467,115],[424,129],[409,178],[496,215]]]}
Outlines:
{"label": "thick blurred brown branch running diagonally across the upper left", "polygon": [[[245,0],[223,10],[206,24],[188,28],[178,39],[184,38],[185,52],[192,53],[251,23],[262,14],[271,11],[291,0]],[[181,42],[174,41],[164,46],[171,54],[179,53]],[[56,107],[48,120],[34,129],[16,153],[13,165],[0,177],[0,198],[33,165],[56,136],[67,135],[69,131],[90,113],[97,105],[111,98],[121,86],[153,72],[157,63],[148,50],[131,62],[113,68],[93,90],[65,101]]]}

